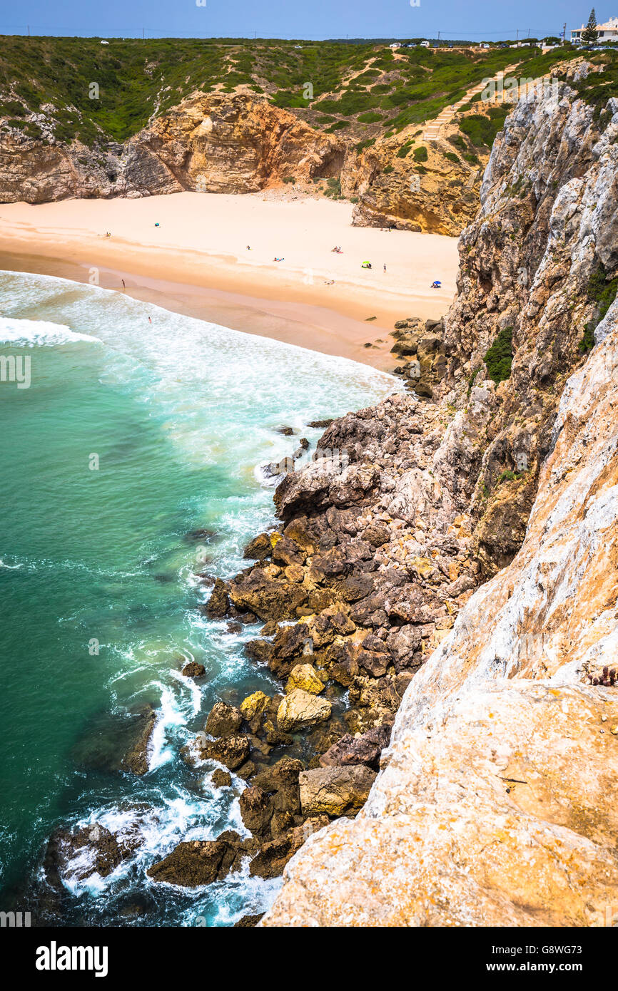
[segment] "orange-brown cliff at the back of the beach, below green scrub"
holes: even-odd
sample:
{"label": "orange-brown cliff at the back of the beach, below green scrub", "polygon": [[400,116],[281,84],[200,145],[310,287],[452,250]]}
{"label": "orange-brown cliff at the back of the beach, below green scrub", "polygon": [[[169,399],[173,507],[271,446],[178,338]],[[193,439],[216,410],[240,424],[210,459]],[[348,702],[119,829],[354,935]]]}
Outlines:
{"label": "orange-brown cliff at the back of the beach, below green scrub", "polygon": [[0,144],[0,201],[254,192],[288,176],[338,174],[344,149],[287,110],[242,94],[195,93],[124,146],[93,151],[13,130]]}

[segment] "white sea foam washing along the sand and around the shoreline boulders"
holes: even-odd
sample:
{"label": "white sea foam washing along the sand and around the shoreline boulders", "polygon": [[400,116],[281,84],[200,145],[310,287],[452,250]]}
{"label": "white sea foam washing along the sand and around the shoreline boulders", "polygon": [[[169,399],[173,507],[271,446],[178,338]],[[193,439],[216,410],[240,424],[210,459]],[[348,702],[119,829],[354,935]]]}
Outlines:
{"label": "white sea foam washing along the sand and around the shoreline boulders", "polygon": [[[201,525],[212,522],[220,534],[212,556],[200,564],[200,570],[212,574],[231,575],[245,567],[242,554],[247,540],[273,521],[272,492],[256,486],[256,465],[290,456],[300,436],[314,439],[317,431],[306,426],[309,420],[369,405],[402,388],[398,380],[368,366],[195,320],[97,286],[53,276],[0,273],[0,292],[7,314],[0,318],[0,342],[30,347],[101,343],[105,372],[100,381],[126,387],[146,405],[149,417],[173,445],[175,458],[191,469],[203,471],[206,466],[213,471],[213,495],[195,496],[197,507],[207,502],[208,516]],[[47,320],[35,319],[38,314]],[[292,426],[296,436],[282,437],[277,427],[283,424]],[[224,482],[220,493],[217,472]],[[208,489],[207,475],[196,475],[195,480],[196,488]],[[162,569],[180,573],[195,585],[195,560],[186,564],[183,551],[166,558]],[[0,567],[17,567],[5,557],[10,564]],[[25,569],[47,565],[28,559]],[[108,577],[96,563],[86,567],[66,561],[61,567],[84,569],[84,577],[87,572],[95,579]],[[140,574],[141,570],[127,569],[109,577],[131,580]],[[157,642],[156,629],[152,635]],[[168,649],[151,647],[146,640],[123,643],[122,631],[114,643],[110,635],[108,654],[118,658],[118,667],[106,673],[105,687],[118,710],[144,698],[159,698],[161,703],[149,747],[149,773],[131,786],[130,801],[139,803],[139,809],[127,809],[126,801],[124,807],[114,804],[113,793],[104,798],[93,794],[88,815],[76,824],[98,822],[121,838],[139,834],[139,842],[107,878],[91,875],[76,880],[75,874],[81,875],[87,864],[75,864],[75,874],[65,880],[75,893],[87,890],[93,897],[105,897],[127,883],[132,871],[140,883],[149,885],[148,867],[181,840],[214,838],[230,827],[246,834],[237,799],[244,787],[241,779],[234,777],[233,789],[216,789],[209,783],[213,765],[206,762],[201,782],[195,785],[193,779],[185,788],[183,775],[176,773],[172,762],[195,731],[190,727],[204,694],[216,697],[248,671],[268,684],[268,671],[249,665],[242,649],[245,640],[256,635],[255,627],[232,635],[225,621],[212,622],[188,609],[179,635],[186,638],[184,647],[190,643],[197,656],[207,655],[207,689],[171,668],[170,657],[177,652],[172,644]],[[79,856],[87,859],[88,854]],[[250,878],[245,864],[225,882],[209,886],[208,892],[200,890],[193,907],[183,910],[181,922],[196,925],[201,908],[214,925],[229,925],[247,912],[268,908],[280,883]],[[193,896],[185,892],[185,897]]]}

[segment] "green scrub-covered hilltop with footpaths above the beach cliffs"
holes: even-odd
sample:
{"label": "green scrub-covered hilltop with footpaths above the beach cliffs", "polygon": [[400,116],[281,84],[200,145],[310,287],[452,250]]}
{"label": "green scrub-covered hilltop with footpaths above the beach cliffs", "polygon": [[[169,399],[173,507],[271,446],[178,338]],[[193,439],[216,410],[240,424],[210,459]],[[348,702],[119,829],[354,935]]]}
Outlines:
{"label": "green scrub-covered hilltop with footpaths above the beach cliffs", "polygon": [[[2,39],[0,119],[33,138],[33,114],[54,122],[58,140],[122,142],[194,90],[248,92],[292,109],[313,127],[371,144],[433,119],[484,76],[517,65],[538,75],[568,49],[401,49],[384,44],[238,40]],[[98,99],[90,98],[96,83]],[[504,120],[477,126],[491,145]],[[343,136],[342,134],[342,136]]]}

